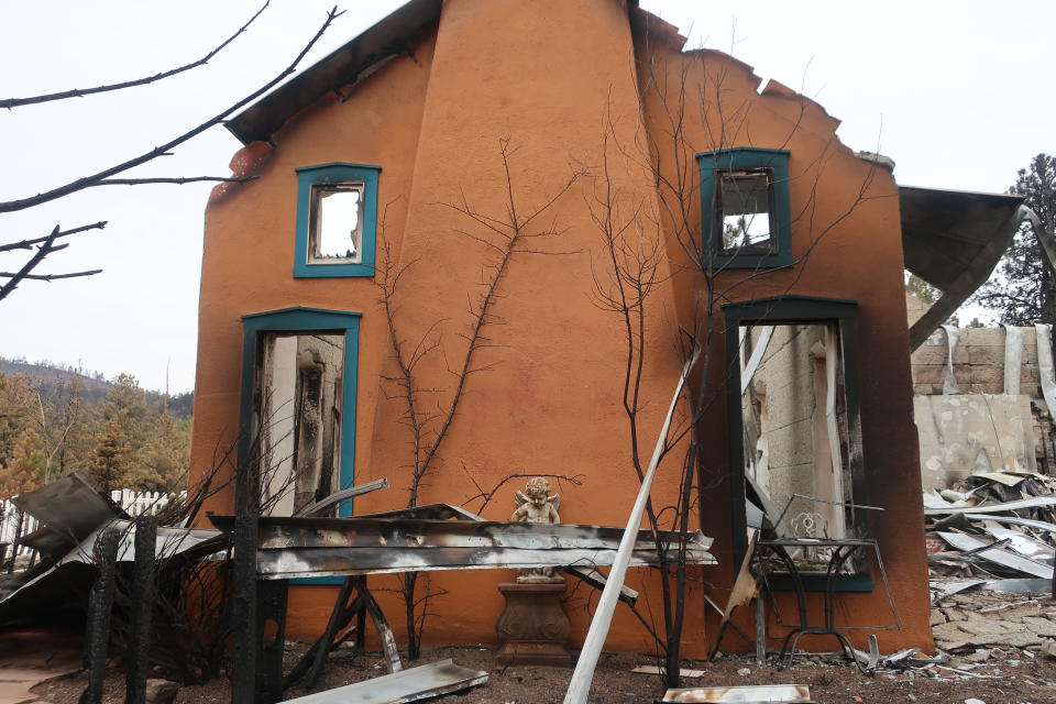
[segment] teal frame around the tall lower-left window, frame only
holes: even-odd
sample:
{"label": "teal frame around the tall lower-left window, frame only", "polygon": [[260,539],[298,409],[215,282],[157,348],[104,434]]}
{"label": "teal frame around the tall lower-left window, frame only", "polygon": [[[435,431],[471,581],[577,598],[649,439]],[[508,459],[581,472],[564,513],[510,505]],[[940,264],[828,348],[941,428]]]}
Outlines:
{"label": "teal frame around the tall lower-left window, frame only", "polygon": [[[240,397],[240,462],[250,457],[252,440],[253,392],[256,355],[262,333],[298,334],[307,332],[344,333],[344,383],[341,409],[341,457],[338,484],[340,490],[355,485],[355,406],[361,314],[322,308],[283,308],[242,316],[242,391]],[[352,499],[338,505],[338,516],[352,515]]]}

